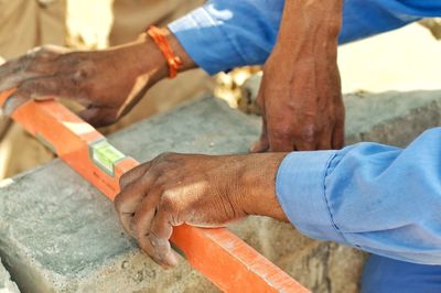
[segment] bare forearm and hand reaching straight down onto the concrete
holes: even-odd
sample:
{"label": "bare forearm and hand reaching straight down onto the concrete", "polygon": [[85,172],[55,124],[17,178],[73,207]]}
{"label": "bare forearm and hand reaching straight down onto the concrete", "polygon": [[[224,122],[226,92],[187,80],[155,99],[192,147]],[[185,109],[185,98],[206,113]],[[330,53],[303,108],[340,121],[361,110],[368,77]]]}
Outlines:
{"label": "bare forearm and hand reaching straight down onto the concrete", "polygon": [[278,42],[263,67],[262,133],[251,152],[343,146],[341,6],[341,0],[286,2]]}

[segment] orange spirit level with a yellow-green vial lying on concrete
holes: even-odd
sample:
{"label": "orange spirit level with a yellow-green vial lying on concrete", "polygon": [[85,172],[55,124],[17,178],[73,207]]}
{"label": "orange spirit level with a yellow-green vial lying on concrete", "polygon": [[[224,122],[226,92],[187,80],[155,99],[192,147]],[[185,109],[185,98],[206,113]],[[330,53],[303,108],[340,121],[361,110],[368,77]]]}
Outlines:
{"label": "orange spirit level with a yellow-green vial lying on concrete", "polygon": [[[14,89],[0,94],[0,106]],[[54,99],[29,101],[12,118],[109,199],[119,177],[139,163]],[[225,292],[310,292],[225,228],[174,228],[172,242]]]}

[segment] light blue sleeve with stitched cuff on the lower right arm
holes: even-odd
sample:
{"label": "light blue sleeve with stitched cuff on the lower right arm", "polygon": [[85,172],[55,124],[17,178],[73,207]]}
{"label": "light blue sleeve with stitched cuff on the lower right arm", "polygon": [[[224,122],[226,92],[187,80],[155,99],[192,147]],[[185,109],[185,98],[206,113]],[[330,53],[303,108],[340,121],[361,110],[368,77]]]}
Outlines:
{"label": "light blue sleeve with stitched cuff on the lower right arm", "polygon": [[441,128],[408,148],[358,143],[293,152],[277,196],[303,234],[424,264],[441,264]]}

